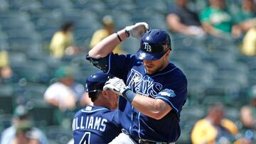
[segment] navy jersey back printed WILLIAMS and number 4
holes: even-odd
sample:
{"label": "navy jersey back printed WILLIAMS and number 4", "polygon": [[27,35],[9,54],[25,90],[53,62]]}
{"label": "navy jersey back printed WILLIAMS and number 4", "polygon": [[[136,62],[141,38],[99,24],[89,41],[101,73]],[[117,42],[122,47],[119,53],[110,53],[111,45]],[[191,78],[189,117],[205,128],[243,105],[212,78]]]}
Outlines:
{"label": "navy jersey back printed WILLIAMS and number 4", "polygon": [[75,113],[72,128],[75,144],[110,143],[121,133],[118,111],[102,106],[86,106]]}

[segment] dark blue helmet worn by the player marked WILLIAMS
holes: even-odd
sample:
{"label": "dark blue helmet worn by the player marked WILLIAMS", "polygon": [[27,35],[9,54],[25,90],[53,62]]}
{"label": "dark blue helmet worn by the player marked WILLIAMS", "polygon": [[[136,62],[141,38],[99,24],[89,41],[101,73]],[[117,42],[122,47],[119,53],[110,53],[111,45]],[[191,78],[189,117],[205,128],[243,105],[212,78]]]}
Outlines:
{"label": "dark blue helmet worn by the player marked WILLIAMS", "polygon": [[86,79],[86,92],[97,92],[102,91],[105,82],[110,79],[110,74],[106,74],[102,71],[91,74]]}

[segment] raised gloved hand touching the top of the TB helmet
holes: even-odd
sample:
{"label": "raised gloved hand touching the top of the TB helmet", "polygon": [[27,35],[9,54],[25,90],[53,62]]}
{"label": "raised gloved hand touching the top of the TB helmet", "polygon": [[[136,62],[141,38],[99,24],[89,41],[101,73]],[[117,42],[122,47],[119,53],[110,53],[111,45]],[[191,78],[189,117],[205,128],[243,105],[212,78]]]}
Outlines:
{"label": "raised gloved hand touching the top of the TB helmet", "polygon": [[125,31],[129,33],[134,38],[139,40],[142,38],[142,35],[149,30],[149,25],[145,22],[135,23],[132,26],[125,27]]}

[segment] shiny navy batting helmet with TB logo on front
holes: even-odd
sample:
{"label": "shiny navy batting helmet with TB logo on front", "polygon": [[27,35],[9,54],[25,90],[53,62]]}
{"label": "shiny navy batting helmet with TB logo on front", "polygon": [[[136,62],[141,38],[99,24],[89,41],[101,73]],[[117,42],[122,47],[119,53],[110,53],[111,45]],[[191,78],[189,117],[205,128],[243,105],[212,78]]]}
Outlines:
{"label": "shiny navy batting helmet with TB logo on front", "polygon": [[[163,45],[166,45],[167,48],[164,48]],[[169,49],[171,49],[169,34],[159,29],[153,29],[143,35],[136,57],[139,60],[159,60]]]}

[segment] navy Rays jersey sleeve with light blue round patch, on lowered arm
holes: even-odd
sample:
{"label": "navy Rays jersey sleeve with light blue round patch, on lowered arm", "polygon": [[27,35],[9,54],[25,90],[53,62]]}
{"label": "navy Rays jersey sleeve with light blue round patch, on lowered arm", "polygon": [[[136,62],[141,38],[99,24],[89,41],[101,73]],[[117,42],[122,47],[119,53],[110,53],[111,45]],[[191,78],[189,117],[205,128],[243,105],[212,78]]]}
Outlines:
{"label": "navy Rays jersey sleeve with light blue round patch, on lowered arm", "polygon": [[181,112],[183,104],[186,102],[187,95],[187,80],[183,76],[180,79],[176,79],[174,86],[166,87],[156,95],[156,99],[166,101],[176,113]]}

